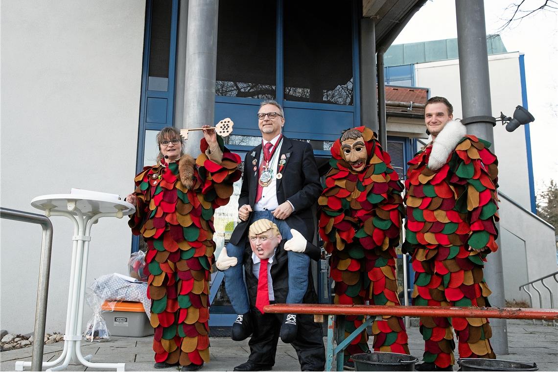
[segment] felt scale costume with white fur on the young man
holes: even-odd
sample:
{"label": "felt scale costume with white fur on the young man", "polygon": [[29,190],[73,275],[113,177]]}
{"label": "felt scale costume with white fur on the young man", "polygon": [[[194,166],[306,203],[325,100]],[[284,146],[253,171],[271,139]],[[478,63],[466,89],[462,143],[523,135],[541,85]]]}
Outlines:
{"label": "felt scale costume with white fur on the young man", "polygon": [[[434,144],[408,163],[403,250],[412,254],[416,272],[414,305],[490,306],[483,265],[486,255],[498,248],[498,162],[488,149],[490,143],[475,136],[458,136],[454,131],[458,125],[462,126],[459,122],[446,124]],[[456,134],[444,138],[447,133]],[[448,145],[451,140],[454,142]],[[442,147],[448,150],[442,151]],[[496,357],[486,319],[421,317],[425,363],[440,368],[455,363],[451,325],[458,336],[460,357]]]}

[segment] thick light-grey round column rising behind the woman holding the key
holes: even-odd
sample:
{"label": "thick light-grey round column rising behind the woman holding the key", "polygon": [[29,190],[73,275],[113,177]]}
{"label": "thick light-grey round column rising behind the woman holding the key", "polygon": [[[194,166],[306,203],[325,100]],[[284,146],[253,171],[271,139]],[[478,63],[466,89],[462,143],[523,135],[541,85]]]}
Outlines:
{"label": "thick light-grey round column rising behind the woman holding the key", "polygon": [[[188,2],[186,45],[186,86],[183,128],[214,125],[215,75],[217,74],[218,0]],[[200,151],[201,131],[190,132],[186,152],[196,157]]]}

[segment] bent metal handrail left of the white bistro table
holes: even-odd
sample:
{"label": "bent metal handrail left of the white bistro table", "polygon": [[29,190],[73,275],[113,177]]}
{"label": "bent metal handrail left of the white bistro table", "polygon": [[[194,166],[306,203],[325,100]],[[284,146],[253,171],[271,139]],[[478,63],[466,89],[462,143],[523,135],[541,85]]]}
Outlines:
{"label": "bent metal handrail left of the white bistro table", "polygon": [[40,214],[0,207],[0,218],[39,224],[42,228],[41,262],[39,265],[39,286],[37,287],[37,307],[35,310],[35,328],[33,332],[33,351],[31,370],[42,370],[42,352],[44,350],[46,305],[49,297],[50,258],[52,252],[52,223]]}

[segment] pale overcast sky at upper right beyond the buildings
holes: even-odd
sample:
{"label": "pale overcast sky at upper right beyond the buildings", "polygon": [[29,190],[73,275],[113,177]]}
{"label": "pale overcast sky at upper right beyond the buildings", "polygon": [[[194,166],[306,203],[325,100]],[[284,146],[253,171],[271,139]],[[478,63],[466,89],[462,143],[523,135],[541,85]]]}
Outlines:
{"label": "pale overcast sky at upper right beyond the buildings", "polygon": [[[487,33],[497,33],[505,23],[503,20],[511,17],[511,11],[506,8],[513,2],[485,0]],[[542,2],[526,0],[522,8],[536,8]],[[416,32],[417,29],[421,32]],[[521,22],[512,23],[500,35],[508,52],[525,54],[527,103],[535,117],[530,127],[533,171],[538,191],[551,179],[558,181],[558,13],[539,11]],[[454,37],[457,37],[455,2],[429,0],[393,44]],[[513,113],[505,114],[511,116]]]}

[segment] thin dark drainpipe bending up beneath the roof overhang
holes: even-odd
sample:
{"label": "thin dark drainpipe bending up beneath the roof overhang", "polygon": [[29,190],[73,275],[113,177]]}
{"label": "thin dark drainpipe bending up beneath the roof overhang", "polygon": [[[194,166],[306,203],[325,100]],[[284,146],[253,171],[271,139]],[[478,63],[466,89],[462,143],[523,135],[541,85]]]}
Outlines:
{"label": "thin dark drainpipe bending up beneath the roof overhang", "polygon": [[393,41],[401,33],[403,28],[411,20],[417,11],[424,5],[426,0],[417,3],[401,20],[397,26],[393,27],[391,31],[384,37],[384,42],[377,48],[376,66],[378,68],[378,139],[384,150],[387,151],[387,117],[386,117],[386,80],[384,78],[384,54],[392,45]]}

